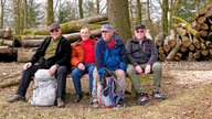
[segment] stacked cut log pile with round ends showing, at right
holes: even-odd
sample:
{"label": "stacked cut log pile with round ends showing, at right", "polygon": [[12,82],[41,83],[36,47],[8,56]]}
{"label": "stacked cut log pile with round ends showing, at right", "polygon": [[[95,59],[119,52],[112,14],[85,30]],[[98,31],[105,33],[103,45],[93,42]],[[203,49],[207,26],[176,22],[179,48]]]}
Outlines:
{"label": "stacked cut log pile with round ends showing, at right", "polygon": [[203,61],[212,60],[212,3],[200,9],[193,22],[173,17],[180,21],[166,36],[159,33],[155,37],[159,61]]}

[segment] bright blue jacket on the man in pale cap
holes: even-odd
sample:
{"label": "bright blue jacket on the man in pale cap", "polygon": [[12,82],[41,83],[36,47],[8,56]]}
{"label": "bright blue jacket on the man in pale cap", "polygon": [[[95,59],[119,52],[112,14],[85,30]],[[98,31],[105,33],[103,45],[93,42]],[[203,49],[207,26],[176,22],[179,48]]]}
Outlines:
{"label": "bright blue jacket on the man in pale cap", "polygon": [[114,33],[115,45],[109,48],[107,43],[100,37],[95,46],[95,61],[99,75],[106,74],[105,68],[109,71],[123,69],[127,67],[126,64],[126,50],[124,42]]}

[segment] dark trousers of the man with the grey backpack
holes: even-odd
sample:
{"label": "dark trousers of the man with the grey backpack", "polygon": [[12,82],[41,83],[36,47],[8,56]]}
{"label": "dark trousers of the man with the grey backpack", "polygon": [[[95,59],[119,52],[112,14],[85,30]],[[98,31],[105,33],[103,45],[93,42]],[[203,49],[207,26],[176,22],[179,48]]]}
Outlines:
{"label": "dark trousers of the man with the grey backpack", "polygon": [[[17,90],[18,95],[25,96],[30,82],[33,79],[34,74],[38,69],[43,68],[40,65],[32,65],[26,71],[23,71],[19,88]],[[59,66],[55,73],[55,78],[57,79],[56,97],[65,99],[66,89],[66,67]]]}

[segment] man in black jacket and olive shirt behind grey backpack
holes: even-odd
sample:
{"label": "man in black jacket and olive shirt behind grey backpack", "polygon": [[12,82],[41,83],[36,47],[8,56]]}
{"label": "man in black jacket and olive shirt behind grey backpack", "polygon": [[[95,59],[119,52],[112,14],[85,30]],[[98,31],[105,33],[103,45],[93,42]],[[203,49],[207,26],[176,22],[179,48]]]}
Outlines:
{"label": "man in black jacket and olive shirt behind grey backpack", "polygon": [[49,30],[51,36],[44,39],[32,58],[24,64],[18,91],[8,100],[9,102],[25,100],[26,89],[35,72],[40,68],[45,68],[49,69],[50,75],[55,75],[57,79],[57,107],[65,106],[66,74],[71,68],[71,44],[62,36],[60,24],[52,23]]}

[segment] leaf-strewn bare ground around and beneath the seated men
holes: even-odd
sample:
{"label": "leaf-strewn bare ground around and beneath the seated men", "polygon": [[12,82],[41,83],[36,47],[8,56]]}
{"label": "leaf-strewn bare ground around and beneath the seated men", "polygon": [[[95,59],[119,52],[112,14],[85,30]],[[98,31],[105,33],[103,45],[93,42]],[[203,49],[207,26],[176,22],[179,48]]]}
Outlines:
{"label": "leaf-strewn bare ground around and beneath the seated men", "polygon": [[[23,64],[0,63],[0,85],[20,79]],[[67,80],[66,107],[34,107],[29,102],[9,104],[18,85],[0,88],[0,119],[59,119],[59,118],[126,118],[126,119],[211,119],[212,117],[212,62],[170,62],[162,63],[161,93],[168,99],[158,101],[150,99],[145,106],[138,106],[137,98],[126,94],[126,108],[93,109],[86,96],[88,84],[83,82],[85,95],[81,102],[74,104],[74,87]],[[11,76],[11,77],[10,77]],[[151,80],[144,86],[151,93]],[[28,89],[26,99],[32,96],[33,82]],[[127,82],[130,91],[130,83]]]}

